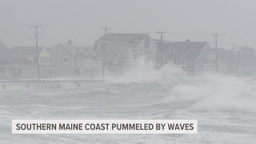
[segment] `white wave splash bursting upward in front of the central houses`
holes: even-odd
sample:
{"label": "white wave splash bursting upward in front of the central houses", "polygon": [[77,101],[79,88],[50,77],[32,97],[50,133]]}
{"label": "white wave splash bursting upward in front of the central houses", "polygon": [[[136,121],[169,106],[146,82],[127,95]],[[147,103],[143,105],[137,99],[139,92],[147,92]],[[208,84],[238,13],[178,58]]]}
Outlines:
{"label": "white wave splash bursting upward in front of the central houses", "polygon": [[134,63],[133,69],[126,70],[120,76],[110,75],[106,78],[106,82],[174,82],[177,78],[186,75],[180,67],[171,64],[155,69],[154,63],[146,61],[145,57],[138,58]]}

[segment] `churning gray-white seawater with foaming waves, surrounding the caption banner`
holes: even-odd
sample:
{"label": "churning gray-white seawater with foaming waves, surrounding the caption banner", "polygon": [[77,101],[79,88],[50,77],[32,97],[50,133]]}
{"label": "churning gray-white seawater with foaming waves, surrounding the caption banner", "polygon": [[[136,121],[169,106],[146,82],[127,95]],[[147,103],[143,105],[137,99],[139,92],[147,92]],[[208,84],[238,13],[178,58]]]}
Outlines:
{"label": "churning gray-white seawater with foaming waves, surrounding the caption banner", "polygon": [[[81,86],[10,84],[0,114],[0,143],[255,143],[256,80],[144,66]],[[198,119],[198,134],[11,134],[12,119]]]}

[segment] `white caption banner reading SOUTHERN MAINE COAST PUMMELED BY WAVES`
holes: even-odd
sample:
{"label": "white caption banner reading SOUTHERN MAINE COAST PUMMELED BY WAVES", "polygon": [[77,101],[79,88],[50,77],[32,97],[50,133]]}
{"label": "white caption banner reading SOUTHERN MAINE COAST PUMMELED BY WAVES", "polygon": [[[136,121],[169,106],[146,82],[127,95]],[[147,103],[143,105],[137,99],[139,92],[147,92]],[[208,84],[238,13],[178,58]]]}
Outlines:
{"label": "white caption banner reading SOUTHERN MAINE COAST PUMMELED BY WAVES", "polygon": [[12,134],[198,134],[198,121],[12,120]]}

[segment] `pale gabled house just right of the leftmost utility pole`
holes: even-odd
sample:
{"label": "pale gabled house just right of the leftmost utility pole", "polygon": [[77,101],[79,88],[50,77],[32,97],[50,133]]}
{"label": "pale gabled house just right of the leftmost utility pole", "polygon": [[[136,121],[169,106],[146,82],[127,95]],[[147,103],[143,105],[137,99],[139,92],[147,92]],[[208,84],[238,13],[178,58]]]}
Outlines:
{"label": "pale gabled house just right of the leftmost utility pole", "polygon": [[90,48],[72,43],[42,50],[39,63],[42,78],[94,77],[101,71],[97,70],[97,62],[90,54]]}

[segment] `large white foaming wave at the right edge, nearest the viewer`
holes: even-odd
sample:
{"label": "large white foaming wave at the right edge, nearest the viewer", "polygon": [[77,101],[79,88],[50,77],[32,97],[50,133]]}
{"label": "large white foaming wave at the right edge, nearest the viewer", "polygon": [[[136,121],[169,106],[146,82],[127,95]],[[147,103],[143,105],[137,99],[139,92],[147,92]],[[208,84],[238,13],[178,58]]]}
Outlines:
{"label": "large white foaming wave at the right edge, nearest the viewer", "polygon": [[166,97],[166,102],[196,101],[194,110],[256,110],[256,86],[243,78],[218,74],[186,78]]}

